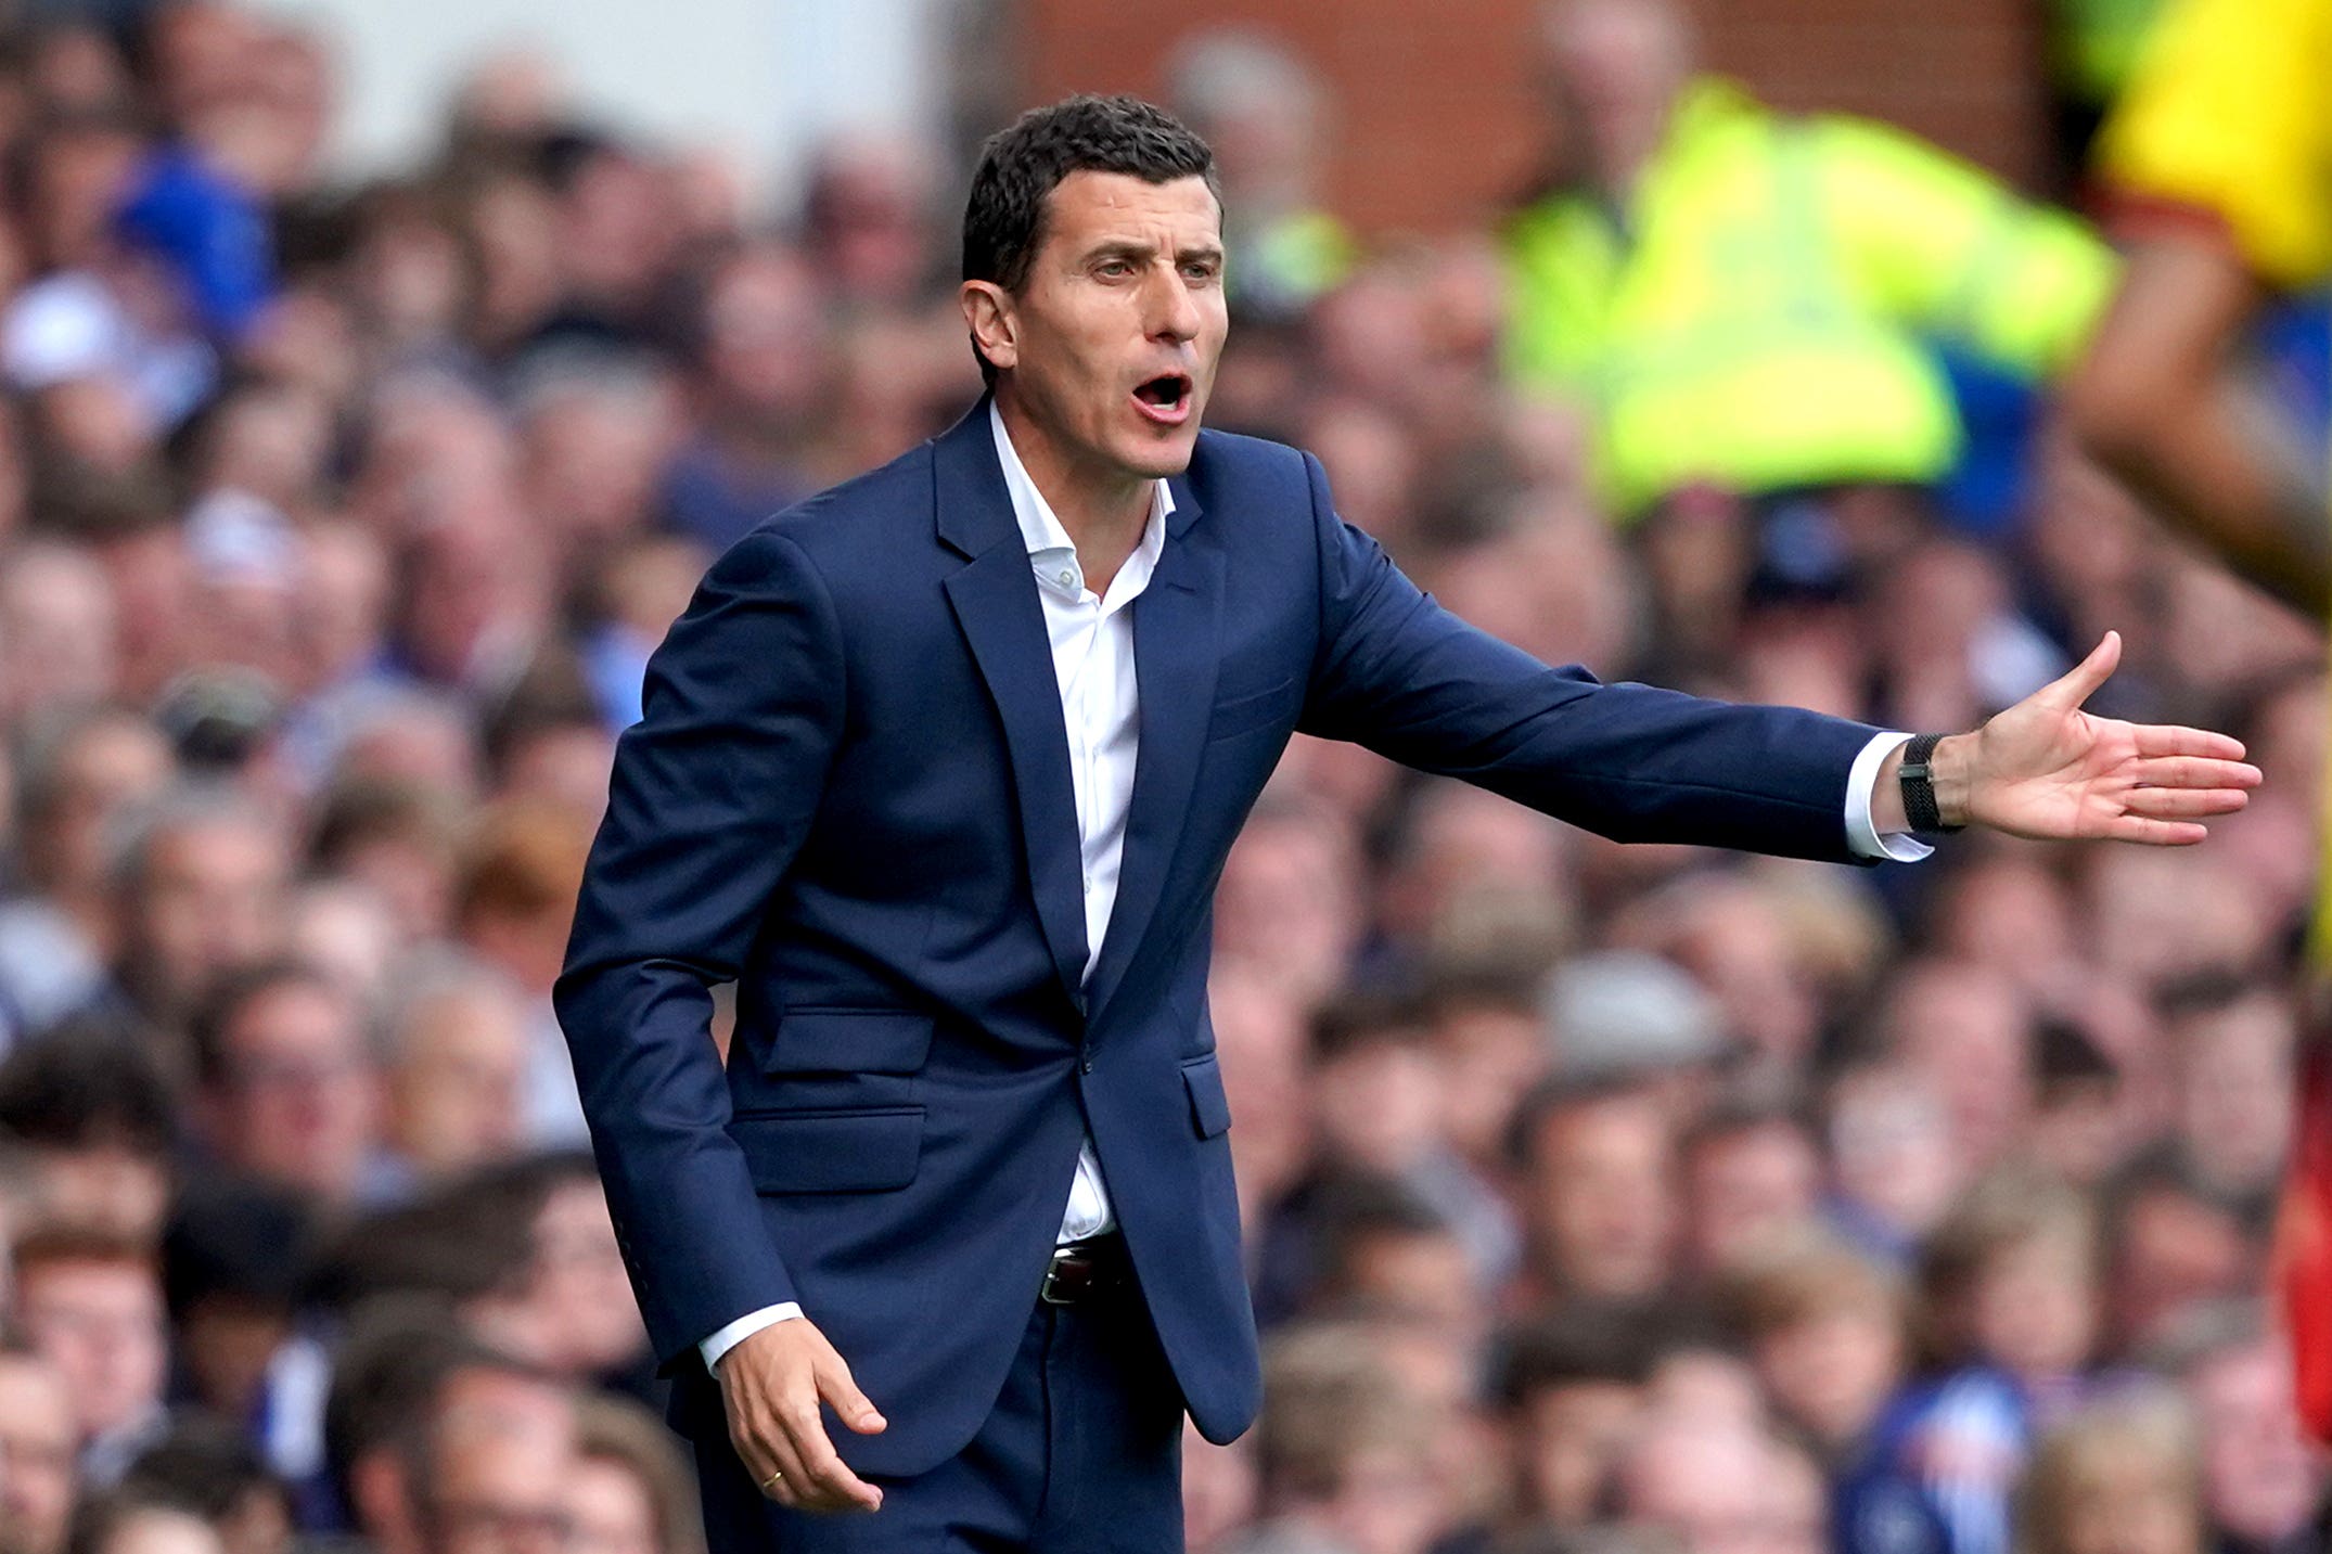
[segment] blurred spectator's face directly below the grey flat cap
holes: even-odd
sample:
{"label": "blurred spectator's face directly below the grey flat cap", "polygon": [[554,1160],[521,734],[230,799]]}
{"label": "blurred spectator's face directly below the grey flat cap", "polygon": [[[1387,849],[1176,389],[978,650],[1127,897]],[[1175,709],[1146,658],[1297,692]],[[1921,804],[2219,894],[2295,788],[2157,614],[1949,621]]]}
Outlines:
{"label": "blurred spectator's face directly below the grey flat cap", "polygon": [[1651,1295],[1677,1230],[1674,1144],[1651,1093],[1560,1107],[1532,1137],[1525,1221],[1544,1279],[1574,1295]]}

